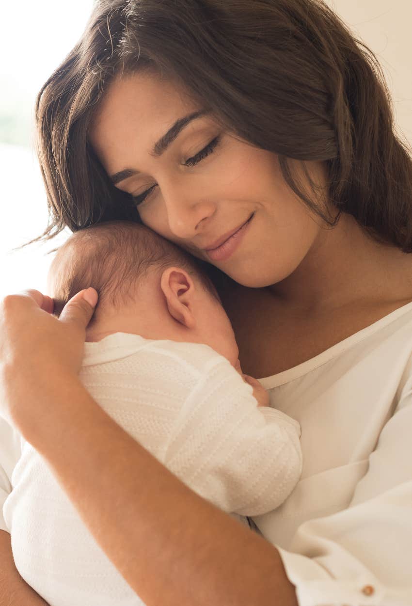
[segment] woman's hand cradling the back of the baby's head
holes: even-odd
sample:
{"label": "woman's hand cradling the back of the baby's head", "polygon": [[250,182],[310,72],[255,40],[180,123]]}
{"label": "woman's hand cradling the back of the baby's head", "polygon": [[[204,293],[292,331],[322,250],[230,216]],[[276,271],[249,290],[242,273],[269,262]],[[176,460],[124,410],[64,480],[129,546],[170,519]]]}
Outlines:
{"label": "woman's hand cradling the back of the baby's head", "polygon": [[59,319],[51,315],[53,299],[38,290],[0,302],[0,415],[10,424],[21,430],[43,412],[33,409],[33,390],[58,387],[62,377],[78,375],[97,299],[94,288],[80,291]]}

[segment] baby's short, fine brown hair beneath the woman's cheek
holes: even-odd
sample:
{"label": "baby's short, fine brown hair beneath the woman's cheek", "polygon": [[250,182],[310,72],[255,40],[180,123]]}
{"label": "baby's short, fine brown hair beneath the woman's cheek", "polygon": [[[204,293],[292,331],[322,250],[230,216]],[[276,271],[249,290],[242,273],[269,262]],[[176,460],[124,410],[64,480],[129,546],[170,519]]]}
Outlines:
{"label": "baby's short, fine brown hair beneath the woman's cheek", "polygon": [[136,285],[150,271],[159,274],[176,265],[199,279],[219,302],[213,282],[200,262],[145,225],[132,221],[110,221],[76,231],[58,249],[50,267],[53,276],[55,315],[84,288],[99,293],[98,308],[133,301]]}

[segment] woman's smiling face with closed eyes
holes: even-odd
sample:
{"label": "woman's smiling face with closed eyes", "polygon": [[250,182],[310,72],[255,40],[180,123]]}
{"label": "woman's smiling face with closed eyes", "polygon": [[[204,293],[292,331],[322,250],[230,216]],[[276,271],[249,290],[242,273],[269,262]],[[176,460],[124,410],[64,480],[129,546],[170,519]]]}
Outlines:
{"label": "woman's smiling face with closed eyes", "polygon": [[[201,110],[155,75],[123,76],[102,99],[90,141],[148,227],[240,284],[279,282],[307,255],[321,220],[285,184],[276,154],[222,130],[212,115],[193,117]],[[305,164],[323,184],[321,162]]]}

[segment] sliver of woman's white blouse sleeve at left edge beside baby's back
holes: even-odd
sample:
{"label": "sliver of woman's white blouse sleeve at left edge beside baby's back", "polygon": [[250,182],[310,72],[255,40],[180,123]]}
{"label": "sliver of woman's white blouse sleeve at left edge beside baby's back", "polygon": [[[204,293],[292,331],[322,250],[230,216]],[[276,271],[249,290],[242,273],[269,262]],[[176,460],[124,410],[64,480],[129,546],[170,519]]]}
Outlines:
{"label": "sliver of woman's white blouse sleeve at left edge beside baby's back", "polygon": [[21,455],[21,437],[0,416],[0,529],[10,532],[3,516],[3,505],[12,491],[12,473]]}

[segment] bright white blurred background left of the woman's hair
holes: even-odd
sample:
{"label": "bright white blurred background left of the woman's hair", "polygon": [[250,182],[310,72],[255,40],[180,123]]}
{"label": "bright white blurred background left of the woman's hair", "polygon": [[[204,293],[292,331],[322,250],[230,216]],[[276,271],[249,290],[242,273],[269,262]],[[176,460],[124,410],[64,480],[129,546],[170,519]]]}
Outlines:
{"label": "bright white blurred background left of the woman's hair", "polygon": [[[76,44],[93,0],[18,0],[1,3],[0,116],[21,116],[32,139],[33,107],[45,80]],[[45,291],[51,256],[64,238],[10,250],[47,225],[45,193],[32,150],[0,143],[0,296],[24,288]]]}

